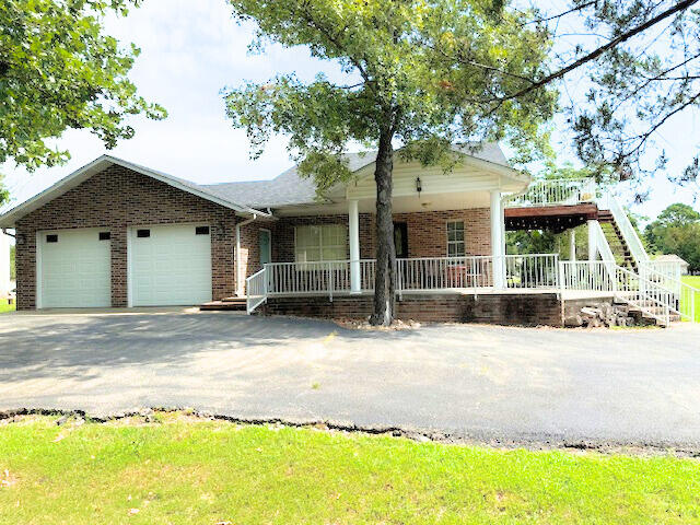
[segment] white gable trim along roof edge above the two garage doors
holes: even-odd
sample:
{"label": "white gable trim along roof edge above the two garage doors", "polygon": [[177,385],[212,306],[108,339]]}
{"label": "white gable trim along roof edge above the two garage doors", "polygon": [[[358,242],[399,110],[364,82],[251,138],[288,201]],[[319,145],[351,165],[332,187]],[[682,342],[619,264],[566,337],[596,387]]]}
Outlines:
{"label": "white gable trim along roof edge above the two garage doors", "polygon": [[57,197],[60,197],[61,195],[67,192],[69,189],[72,189],[78,185],[84,183],[90,177],[106,170],[110,165],[118,165],[121,167],[126,167],[127,170],[131,170],[136,173],[140,173],[141,175],[145,175],[147,177],[154,178],[155,180],[160,180],[161,183],[167,184],[168,186],[173,186],[174,188],[180,189],[183,191],[187,191],[188,194],[196,195],[197,197],[200,197],[205,200],[209,200],[224,208],[229,208],[244,215],[253,215],[253,214],[258,214],[262,217],[269,215],[268,213],[254,210],[252,208],[247,208],[244,206],[238,206],[235,202],[224,200],[212,194],[203,191],[195,187],[194,183],[190,186],[185,180],[180,180],[165,173],[156,172],[148,167],[139,166],[138,164],[132,164],[128,161],[117,159],[116,156],[102,155],[98,159],[95,159],[90,164],[86,164],[83,167],[74,171],[67,177],[61,178],[59,182],[48,187],[40,194],[32,197],[31,199],[22,202],[21,205],[12,208],[8,212],[0,215],[0,228],[14,228],[14,222],[16,220],[40,208],[45,203],[50,202]]}

